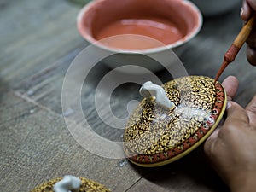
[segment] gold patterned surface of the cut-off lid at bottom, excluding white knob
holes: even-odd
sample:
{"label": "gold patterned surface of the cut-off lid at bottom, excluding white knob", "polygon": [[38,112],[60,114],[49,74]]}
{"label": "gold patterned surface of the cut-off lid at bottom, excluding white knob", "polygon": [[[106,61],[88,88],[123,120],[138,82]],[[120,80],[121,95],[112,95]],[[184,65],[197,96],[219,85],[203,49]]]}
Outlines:
{"label": "gold patterned surface of the cut-off lid at bottom, excluding white knob", "polygon": [[[53,187],[55,183],[60,182],[61,179],[61,177],[58,177],[46,183],[42,183],[35,189],[32,189],[31,192],[55,192]],[[110,192],[110,190],[105,188],[101,183],[96,183],[84,177],[79,177],[79,179],[81,180],[81,186],[79,190],[75,190],[76,192]]]}

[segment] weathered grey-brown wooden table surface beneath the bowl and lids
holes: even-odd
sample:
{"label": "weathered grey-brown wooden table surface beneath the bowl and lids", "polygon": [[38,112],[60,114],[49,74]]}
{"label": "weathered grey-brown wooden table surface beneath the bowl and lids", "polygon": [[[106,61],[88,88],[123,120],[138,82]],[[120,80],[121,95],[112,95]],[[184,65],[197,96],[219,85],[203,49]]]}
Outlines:
{"label": "weathered grey-brown wooden table surface beneath the bowl and lids", "polygon": [[[76,111],[62,113],[61,87],[67,68],[88,45],[76,29],[79,9],[64,0],[0,2],[0,189],[29,191],[48,179],[72,174],[113,191],[228,191],[202,148],[170,165],[142,168],[93,154],[75,141],[64,117]],[[204,18],[201,32],[180,56],[189,75],[215,76],[241,28],[239,11],[237,5],[226,15]],[[110,71],[100,66],[90,72],[82,106],[97,134],[119,140],[122,130],[104,124],[94,106],[96,85]],[[230,74],[240,80],[235,99],[245,106],[256,90],[256,68],[247,63],[245,48],[220,80]],[[157,75],[170,79],[165,72]],[[114,91],[114,114],[127,116],[127,102],[138,98],[137,88],[124,84]]]}

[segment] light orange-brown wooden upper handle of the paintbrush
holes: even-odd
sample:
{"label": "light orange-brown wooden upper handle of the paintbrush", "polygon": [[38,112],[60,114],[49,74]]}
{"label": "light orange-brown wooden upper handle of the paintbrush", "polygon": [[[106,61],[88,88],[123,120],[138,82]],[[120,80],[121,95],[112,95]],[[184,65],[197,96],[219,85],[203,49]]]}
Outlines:
{"label": "light orange-brown wooden upper handle of the paintbrush", "polygon": [[235,41],[233,44],[237,48],[241,48],[241,46],[246,42],[247,38],[249,37],[252,29],[253,29],[253,24],[256,18],[256,14],[254,14],[250,20],[247,21],[247,23],[242,27],[241,32],[237,35]]}

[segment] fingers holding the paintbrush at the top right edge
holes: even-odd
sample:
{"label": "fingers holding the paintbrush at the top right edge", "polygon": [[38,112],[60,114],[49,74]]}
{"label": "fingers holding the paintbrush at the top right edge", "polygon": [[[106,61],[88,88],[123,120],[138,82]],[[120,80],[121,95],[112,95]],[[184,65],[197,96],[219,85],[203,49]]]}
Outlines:
{"label": "fingers holding the paintbrush at the top right edge", "polygon": [[[243,0],[241,7],[241,20],[248,20],[253,12],[256,12],[256,0]],[[247,60],[256,66],[256,22],[254,22],[253,31],[247,38]]]}

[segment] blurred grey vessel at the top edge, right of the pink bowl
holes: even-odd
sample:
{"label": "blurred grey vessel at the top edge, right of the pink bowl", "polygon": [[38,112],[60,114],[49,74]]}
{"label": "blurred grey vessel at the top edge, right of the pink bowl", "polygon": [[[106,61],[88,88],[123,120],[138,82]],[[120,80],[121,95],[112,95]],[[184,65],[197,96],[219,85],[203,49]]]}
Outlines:
{"label": "blurred grey vessel at the top edge, right of the pink bowl", "polygon": [[190,0],[205,16],[221,15],[234,9],[241,0]]}

